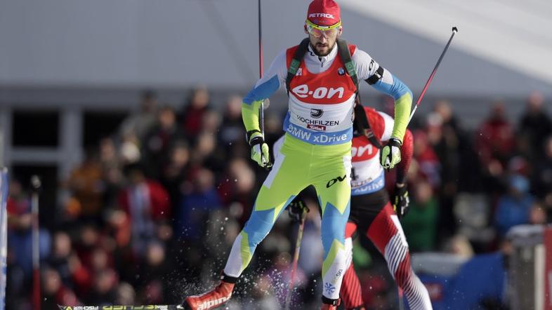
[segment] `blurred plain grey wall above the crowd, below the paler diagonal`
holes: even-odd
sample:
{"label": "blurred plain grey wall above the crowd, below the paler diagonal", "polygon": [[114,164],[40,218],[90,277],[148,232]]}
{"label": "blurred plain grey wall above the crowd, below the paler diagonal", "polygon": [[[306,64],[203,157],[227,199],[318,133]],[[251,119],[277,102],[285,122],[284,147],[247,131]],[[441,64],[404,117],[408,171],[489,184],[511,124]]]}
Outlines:
{"label": "blurred plain grey wall above the crowd, below the paler diagonal", "polygon": [[[265,66],[304,36],[308,3],[263,0]],[[254,0],[3,0],[0,86],[204,83],[247,88],[258,74],[256,4]],[[450,33],[442,29],[442,38],[430,41],[346,8],[342,19],[344,37],[367,50],[414,93],[423,87]],[[456,50],[453,42],[429,91],[523,96],[537,89],[552,95],[551,85],[530,76]]]}

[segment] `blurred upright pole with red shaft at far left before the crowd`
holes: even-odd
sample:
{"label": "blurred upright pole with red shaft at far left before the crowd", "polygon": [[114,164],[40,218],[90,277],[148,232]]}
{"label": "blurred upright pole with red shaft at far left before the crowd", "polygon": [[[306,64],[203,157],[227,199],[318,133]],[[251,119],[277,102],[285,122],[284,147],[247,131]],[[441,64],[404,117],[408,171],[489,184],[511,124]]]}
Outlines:
{"label": "blurred upright pole with red shaft at far left before the crowd", "polygon": [[31,177],[31,213],[32,213],[32,282],[33,303],[35,310],[40,310],[40,233],[39,233],[39,191],[40,178],[37,175]]}

